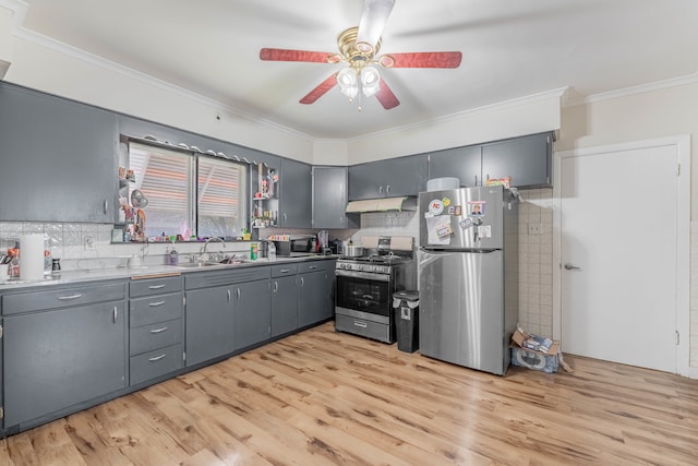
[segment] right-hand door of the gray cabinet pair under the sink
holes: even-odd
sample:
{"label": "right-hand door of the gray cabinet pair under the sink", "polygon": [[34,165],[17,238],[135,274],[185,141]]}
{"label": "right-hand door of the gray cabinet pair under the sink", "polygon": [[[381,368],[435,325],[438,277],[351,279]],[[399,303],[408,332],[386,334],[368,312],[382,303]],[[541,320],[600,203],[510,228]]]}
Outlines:
{"label": "right-hand door of the gray cabinet pair under the sink", "polygon": [[269,339],[272,335],[272,295],[269,280],[233,287],[236,349]]}

